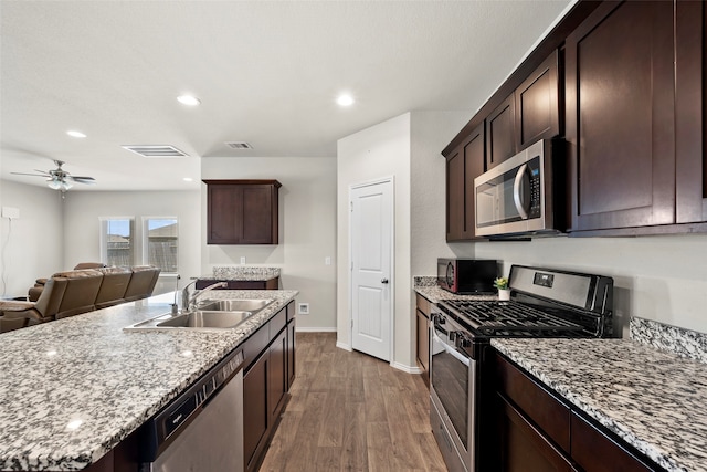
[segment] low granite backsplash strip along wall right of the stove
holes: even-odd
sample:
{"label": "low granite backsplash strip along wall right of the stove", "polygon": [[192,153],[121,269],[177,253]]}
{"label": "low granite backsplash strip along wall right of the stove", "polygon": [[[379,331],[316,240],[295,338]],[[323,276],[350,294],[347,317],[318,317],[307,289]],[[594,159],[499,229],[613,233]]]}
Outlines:
{"label": "low granite backsplash strip along wall right of the stove", "polygon": [[637,317],[631,318],[629,329],[635,342],[707,363],[707,334]]}

